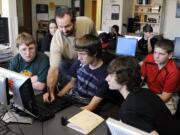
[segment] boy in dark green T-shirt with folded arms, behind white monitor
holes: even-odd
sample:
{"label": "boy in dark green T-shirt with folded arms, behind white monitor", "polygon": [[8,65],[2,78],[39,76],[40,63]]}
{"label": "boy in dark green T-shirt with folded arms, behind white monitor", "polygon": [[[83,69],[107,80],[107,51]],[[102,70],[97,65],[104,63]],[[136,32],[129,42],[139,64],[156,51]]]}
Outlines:
{"label": "boy in dark green T-shirt with folded arms, behind white monitor", "polygon": [[37,52],[36,43],[28,33],[18,35],[16,47],[19,53],[10,61],[9,69],[31,77],[35,94],[40,93],[46,87],[49,58]]}

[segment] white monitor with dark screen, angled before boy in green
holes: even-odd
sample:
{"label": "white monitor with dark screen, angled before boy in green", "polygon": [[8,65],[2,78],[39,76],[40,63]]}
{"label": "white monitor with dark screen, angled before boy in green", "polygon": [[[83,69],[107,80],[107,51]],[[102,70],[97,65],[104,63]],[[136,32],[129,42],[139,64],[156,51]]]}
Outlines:
{"label": "white monitor with dark screen, angled before boy in green", "polygon": [[29,111],[29,108],[31,108],[32,103],[34,103],[35,96],[31,79],[20,73],[16,73],[1,67],[0,74],[8,78],[8,80],[13,81],[12,93],[14,106],[32,115],[32,113]]}

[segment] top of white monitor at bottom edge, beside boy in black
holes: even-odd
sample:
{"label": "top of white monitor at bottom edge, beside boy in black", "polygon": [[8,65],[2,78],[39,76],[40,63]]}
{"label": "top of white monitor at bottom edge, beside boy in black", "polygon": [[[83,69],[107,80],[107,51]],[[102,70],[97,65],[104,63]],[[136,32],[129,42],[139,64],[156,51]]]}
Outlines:
{"label": "top of white monitor at bottom edge, beside boy in black", "polygon": [[106,120],[112,135],[150,135],[149,133],[112,118]]}

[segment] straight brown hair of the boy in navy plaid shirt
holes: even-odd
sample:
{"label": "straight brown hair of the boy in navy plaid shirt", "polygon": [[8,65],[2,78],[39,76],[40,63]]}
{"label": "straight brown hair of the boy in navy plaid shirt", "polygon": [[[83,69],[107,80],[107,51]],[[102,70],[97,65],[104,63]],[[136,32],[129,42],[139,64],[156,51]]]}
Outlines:
{"label": "straight brown hair of the boy in navy plaid shirt", "polygon": [[76,39],[75,49],[78,52],[85,51],[89,56],[101,57],[101,41],[97,36],[86,34],[81,38]]}

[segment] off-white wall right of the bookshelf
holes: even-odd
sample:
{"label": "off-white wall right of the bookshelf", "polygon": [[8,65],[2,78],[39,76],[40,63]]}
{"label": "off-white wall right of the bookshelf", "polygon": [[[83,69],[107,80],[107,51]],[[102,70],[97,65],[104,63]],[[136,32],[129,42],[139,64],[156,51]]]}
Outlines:
{"label": "off-white wall right of the bookshelf", "polygon": [[165,21],[164,21],[164,37],[174,39],[180,37],[180,18],[176,16],[176,2],[177,0],[166,0]]}

